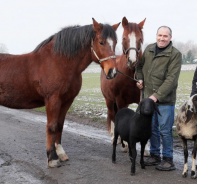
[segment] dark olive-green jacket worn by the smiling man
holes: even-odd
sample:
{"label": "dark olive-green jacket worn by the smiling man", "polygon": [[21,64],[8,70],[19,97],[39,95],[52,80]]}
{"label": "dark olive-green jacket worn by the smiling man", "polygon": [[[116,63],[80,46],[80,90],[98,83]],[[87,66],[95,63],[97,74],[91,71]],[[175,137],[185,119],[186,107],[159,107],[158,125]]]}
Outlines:
{"label": "dark olive-green jacket worn by the smiling man", "polygon": [[171,45],[155,56],[156,43],[145,49],[137,67],[144,98],[154,95],[160,105],[175,105],[182,54]]}

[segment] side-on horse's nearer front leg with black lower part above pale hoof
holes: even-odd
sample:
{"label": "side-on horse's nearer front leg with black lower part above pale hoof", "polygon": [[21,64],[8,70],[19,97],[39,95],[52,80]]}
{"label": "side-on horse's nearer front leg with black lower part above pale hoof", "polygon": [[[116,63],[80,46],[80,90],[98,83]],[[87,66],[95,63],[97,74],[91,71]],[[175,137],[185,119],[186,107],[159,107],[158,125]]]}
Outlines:
{"label": "side-on horse's nearer front leg with black lower part above pale hoof", "polygon": [[56,132],[58,127],[58,117],[61,109],[61,101],[58,97],[52,96],[46,101],[47,112],[47,157],[49,167],[61,166],[55,148]]}

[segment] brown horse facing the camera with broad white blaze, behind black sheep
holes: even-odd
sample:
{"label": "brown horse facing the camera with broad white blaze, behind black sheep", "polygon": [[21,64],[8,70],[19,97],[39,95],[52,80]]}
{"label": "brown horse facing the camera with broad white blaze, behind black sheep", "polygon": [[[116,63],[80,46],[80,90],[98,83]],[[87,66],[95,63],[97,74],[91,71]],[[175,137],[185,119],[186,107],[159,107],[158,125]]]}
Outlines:
{"label": "brown horse facing the camera with broad white blaze, behind black sheep", "polygon": [[[122,19],[124,29],[122,37],[123,53],[116,59],[117,68],[120,72],[132,78],[135,78],[136,66],[142,56],[142,29],[145,20],[136,24],[129,23],[126,17]],[[101,72],[101,91],[108,108],[107,127],[109,131],[110,129],[114,130],[114,123],[112,122],[114,122],[117,110],[140,101],[140,90],[136,87],[136,81],[127,76],[118,73],[114,80],[108,81],[105,79],[104,72]]]}

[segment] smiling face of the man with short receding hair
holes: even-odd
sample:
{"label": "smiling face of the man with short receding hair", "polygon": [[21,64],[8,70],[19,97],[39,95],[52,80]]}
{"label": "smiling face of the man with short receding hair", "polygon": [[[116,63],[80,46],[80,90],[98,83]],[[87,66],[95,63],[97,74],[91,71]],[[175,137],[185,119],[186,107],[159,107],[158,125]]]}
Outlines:
{"label": "smiling face of the man with short receding hair", "polygon": [[170,43],[171,38],[172,36],[170,35],[170,30],[168,28],[161,27],[156,35],[157,46],[159,48],[166,47]]}

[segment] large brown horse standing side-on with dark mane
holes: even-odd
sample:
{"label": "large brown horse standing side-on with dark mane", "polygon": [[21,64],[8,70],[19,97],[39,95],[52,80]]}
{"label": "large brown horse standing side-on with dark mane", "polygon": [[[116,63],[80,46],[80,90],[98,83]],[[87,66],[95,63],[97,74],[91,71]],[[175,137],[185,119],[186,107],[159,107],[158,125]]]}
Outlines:
{"label": "large brown horse standing side-on with dark mane", "polygon": [[82,71],[99,63],[106,78],[116,75],[116,29],[93,24],[62,29],[28,54],[0,54],[0,105],[15,109],[46,106],[49,167],[68,160],[61,146],[66,113],[81,89]]}

